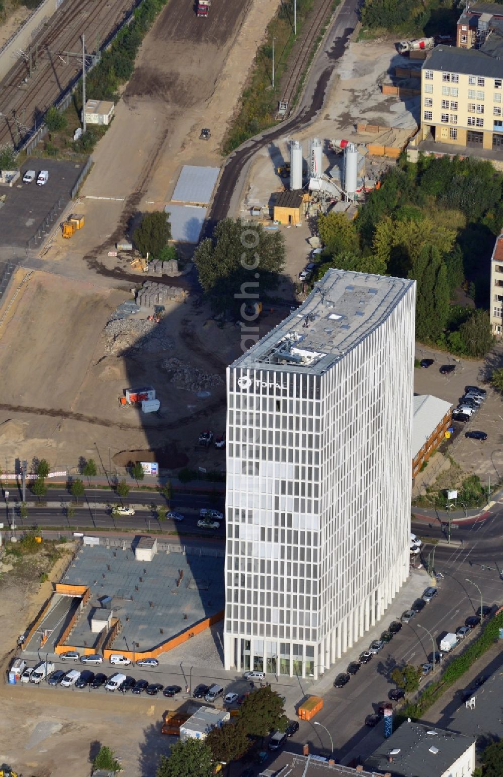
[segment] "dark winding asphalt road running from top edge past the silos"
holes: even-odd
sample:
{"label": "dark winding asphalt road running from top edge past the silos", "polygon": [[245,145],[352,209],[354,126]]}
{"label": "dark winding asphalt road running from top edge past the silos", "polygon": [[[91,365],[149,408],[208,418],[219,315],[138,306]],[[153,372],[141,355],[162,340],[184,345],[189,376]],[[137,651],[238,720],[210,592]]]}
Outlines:
{"label": "dark winding asphalt road running from top edge past the silos", "polygon": [[328,85],[334,75],[335,61],[344,53],[349,37],[355,30],[358,21],[356,13],[358,5],[358,0],[345,0],[338,10],[324,48],[317,56],[310,71],[307,88],[304,91],[297,114],[274,129],[247,141],[228,159],[213,197],[213,204],[205,227],[206,236],[212,234],[218,221],[230,215],[234,190],[237,190],[241,173],[245,171],[255,153],[274,140],[286,138],[294,132],[300,131],[310,124],[318,111],[322,109]]}

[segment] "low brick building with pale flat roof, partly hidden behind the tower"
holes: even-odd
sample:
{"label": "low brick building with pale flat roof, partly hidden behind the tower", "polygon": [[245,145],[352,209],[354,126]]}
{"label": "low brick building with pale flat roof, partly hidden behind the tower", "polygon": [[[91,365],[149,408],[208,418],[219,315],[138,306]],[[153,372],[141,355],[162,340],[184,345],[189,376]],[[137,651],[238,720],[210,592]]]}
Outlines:
{"label": "low brick building with pale flat roof, partly hidden behind the tower", "polygon": [[452,419],[453,406],[431,394],[414,397],[412,421],[412,477],[428,461],[446,436]]}

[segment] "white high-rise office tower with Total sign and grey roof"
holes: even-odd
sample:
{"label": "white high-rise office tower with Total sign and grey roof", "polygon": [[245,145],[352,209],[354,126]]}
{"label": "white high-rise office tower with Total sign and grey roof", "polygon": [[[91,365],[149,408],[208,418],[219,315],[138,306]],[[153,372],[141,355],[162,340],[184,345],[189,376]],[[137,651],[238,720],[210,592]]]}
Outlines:
{"label": "white high-rise office tower with Total sign and grey roof", "polygon": [[317,677],[409,573],[415,281],[329,270],[227,369],[225,667]]}

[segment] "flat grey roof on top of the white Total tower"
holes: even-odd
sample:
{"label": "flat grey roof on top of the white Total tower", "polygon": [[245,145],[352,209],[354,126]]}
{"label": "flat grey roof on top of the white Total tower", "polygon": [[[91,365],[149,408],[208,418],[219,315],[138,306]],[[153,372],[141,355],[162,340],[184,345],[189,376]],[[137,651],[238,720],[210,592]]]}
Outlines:
{"label": "flat grey roof on top of the white Total tower", "polygon": [[233,368],[321,375],[380,326],[415,280],[328,270],[300,308]]}

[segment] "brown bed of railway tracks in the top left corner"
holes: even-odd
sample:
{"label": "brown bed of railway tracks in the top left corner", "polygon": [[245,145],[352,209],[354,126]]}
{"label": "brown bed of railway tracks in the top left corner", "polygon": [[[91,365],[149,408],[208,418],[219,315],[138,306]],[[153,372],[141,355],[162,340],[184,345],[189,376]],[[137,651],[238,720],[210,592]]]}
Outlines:
{"label": "brown bed of railway tracks in the top left corner", "polygon": [[31,75],[29,61],[19,59],[0,83],[0,144],[19,145],[78,76],[81,61],[65,56],[82,48],[82,34],[86,51],[95,51],[96,40],[106,40],[134,5],[135,0],[65,0],[31,44]]}

